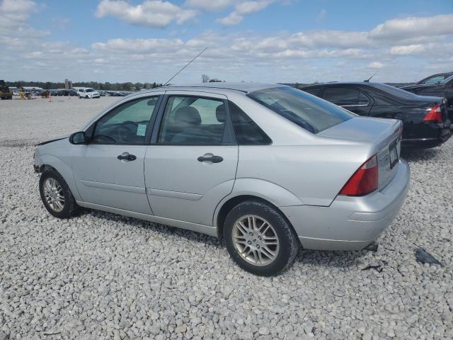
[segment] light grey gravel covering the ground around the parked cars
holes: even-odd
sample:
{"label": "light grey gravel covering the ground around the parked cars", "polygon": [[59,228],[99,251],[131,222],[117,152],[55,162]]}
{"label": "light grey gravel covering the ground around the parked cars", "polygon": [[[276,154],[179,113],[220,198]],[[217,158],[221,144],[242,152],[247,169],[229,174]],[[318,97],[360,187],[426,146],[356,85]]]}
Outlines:
{"label": "light grey gravel covering the ground around the parked cars", "polygon": [[[0,102],[0,340],[453,339],[453,140],[406,154],[411,190],[377,253],[299,251],[289,271],[260,278],[212,237],[47,213],[30,143],[112,101]],[[416,262],[417,246],[445,266]]]}

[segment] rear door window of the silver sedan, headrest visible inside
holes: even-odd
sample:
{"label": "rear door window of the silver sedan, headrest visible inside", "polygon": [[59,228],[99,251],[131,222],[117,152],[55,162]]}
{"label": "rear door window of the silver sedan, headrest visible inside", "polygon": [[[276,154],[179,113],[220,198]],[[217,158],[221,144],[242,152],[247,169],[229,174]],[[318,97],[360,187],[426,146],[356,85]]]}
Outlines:
{"label": "rear door window of the silver sedan, headrest visible inside", "polygon": [[226,111],[222,100],[195,96],[170,96],[162,119],[159,143],[222,144],[226,122]]}

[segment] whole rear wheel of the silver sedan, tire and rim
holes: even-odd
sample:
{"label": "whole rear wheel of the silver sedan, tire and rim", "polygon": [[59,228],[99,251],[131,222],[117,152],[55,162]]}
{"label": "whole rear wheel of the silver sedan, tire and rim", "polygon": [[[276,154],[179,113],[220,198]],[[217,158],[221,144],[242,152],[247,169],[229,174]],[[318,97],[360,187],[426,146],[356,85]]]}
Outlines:
{"label": "whole rear wheel of the silver sedan, tire and rim", "polygon": [[273,206],[258,201],[236,205],[224,222],[226,249],[244,270],[274,276],[291,265],[299,241]]}

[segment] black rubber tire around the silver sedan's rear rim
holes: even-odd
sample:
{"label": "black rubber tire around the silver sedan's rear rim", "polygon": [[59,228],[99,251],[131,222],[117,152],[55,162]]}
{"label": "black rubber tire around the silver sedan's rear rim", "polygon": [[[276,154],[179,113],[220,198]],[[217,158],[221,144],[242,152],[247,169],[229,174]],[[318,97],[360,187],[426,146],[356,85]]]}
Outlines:
{"label": "black rubber tire around the silver sedan's rear rim", "polygon": [[[261,219],[267,221],[272,225],[275,233],[278,237],[278,251],[272,262],[266,265],[258,266],[256,264],[247,261],[239,253],[239,249],[236,249],[233,242],[233,229],[237,221],[247,215],[255,215]],[[299,250],[299,240],[297,235],[289,225],[289,222],[280,212],[278,212],[272,205],[264,202],[248,200],[243,203],[236,205],[226,215],[224,222],[224,239],[226,243],[226,249],[238,265],[245,271],[253,273],[259,276],[275,276],[282,271],[285,271],[297,255]],[[246,245],[244,245],[244,250]]]}

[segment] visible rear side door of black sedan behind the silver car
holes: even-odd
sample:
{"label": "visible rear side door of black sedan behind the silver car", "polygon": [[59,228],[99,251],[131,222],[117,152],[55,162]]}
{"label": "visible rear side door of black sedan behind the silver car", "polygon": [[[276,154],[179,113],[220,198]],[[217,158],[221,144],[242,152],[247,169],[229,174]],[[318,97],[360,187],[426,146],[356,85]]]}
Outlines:
{"label": "visible rear side door of black sedan behind the silver car", "polygon": [[324,90],[323,99],[357,115],[368,115],[373,105],[371,98],[362,91],[349,87],[328,86]]}

